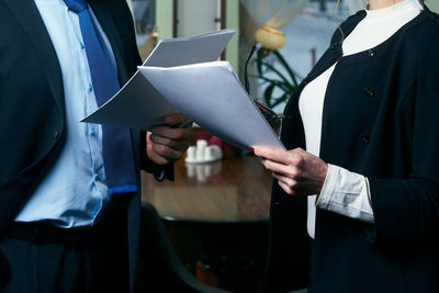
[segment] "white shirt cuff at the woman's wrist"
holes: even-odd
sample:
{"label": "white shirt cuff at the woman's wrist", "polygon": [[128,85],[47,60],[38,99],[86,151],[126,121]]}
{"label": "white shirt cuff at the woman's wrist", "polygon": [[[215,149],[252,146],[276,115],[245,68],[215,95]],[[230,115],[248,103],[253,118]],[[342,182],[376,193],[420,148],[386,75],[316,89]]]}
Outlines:
{"label": "white shirt cuff at the woman's wrist", "polygon": [[351,218],[374,223],[369,181],[341,167],[328,165],[316,206]]}

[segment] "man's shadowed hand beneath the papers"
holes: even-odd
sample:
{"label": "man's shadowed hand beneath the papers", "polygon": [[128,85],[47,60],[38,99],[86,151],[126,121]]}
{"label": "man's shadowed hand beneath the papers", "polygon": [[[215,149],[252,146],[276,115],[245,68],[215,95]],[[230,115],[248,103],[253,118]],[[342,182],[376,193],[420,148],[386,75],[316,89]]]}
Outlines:
{"label": "man's shadowed hand beneath the papers", "polygon": [[146,154],[158,165],[167,165],[178,160],[189,147],[192,137],[192,125],[178,126],[188,121],[183,114],[169,114],[165,117],[167,125],[160,125],[147,132]]}

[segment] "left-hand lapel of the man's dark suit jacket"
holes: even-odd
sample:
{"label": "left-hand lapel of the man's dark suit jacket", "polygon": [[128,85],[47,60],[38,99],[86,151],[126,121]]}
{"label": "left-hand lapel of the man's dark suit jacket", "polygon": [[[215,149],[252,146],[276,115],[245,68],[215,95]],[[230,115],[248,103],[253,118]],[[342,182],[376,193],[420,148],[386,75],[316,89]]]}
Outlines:
{"label": "left-hand lapel of the man's dark suit jacket", "polygon": [[61,69],[50,36],[34,1],[4,0],[4,3],[19,20],[25,34],[27,34],[40,57],[41,69],[47,79],[55,102],[60,113],[65,115]]}

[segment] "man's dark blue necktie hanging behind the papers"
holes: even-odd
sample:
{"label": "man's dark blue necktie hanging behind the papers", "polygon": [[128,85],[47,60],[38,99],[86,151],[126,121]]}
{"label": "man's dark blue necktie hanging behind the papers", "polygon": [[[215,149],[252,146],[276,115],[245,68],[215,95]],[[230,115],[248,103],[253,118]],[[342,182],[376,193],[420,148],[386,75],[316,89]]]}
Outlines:
{"label": "man's dark blue necktie hanging behind the papers", "polygon": [[[86,0],[64,0],[78,14],[98,105],[105,103],[120,89],[117,74]],[[102,125],[102,151],[109,194],[137,191],[130,129]]]}

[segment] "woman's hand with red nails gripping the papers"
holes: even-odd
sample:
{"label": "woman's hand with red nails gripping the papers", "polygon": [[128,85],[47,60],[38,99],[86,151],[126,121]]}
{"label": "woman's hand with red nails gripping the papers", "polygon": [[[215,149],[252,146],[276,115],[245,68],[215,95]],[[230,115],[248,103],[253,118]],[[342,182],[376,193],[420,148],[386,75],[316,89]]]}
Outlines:
{"label": "woman's hand with red nails gripping the papers", "polygon": [[279,185],[290,195],[313,195],[320,193],[328,172],[328,165],[302,148],[277,150],[254,147],[254,154],[261,157]]}

